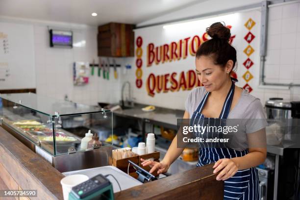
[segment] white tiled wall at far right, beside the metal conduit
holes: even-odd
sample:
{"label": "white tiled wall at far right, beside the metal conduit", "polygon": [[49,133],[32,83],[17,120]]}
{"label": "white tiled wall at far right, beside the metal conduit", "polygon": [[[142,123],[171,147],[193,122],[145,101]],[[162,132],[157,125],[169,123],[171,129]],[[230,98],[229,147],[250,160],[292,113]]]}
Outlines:
{"label": "white tiled wall at far right, beside the metal conduit", "polygon": [[[300,3],[270,7],[265,81],[300,84]],[[300,87],[257,89],[262,102],[270,97],[300,100]]]}

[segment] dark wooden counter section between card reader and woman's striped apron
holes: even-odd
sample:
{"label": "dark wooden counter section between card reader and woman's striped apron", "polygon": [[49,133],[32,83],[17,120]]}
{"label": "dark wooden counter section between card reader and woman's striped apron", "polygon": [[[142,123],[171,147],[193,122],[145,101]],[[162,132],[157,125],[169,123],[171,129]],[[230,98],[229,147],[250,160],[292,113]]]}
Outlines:
{"label": "dark wooden counter section between card reader and woman's striped apron", "polygon": [[115,193],[116,200],[223,200],[224,181],[205,165]]}

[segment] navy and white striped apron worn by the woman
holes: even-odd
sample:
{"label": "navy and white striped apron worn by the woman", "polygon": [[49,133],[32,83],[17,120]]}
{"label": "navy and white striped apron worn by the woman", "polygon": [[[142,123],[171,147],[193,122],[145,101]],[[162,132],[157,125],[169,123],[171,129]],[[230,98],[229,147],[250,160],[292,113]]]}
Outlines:
{"label": "navy and white striped apron worn by the woman", "polygon": [[[196,111],[193,113],[190,125],[224,125],[225,119],[227,119],[230,111],[231,102],[234,94],[234,82],[236,79],[232,78],[232,85],[227,94],[224,102],[220,117],[216,118],[205,118],[201,113],[204,104],[208,98],[209,92],[206,92]],[[206,132],[201,134],[200,132],[195,133],[197,137],[205,138],[223,138],[222,132]],[[225,146],[219,146],[214,148],[212,145],[205,145],[205,143],[199,143],[199,161],[197,167],[207,165],[210,163],[217,162],[222,158],[234,158],[241,157],[248,153],[248,150],[233,150],[226,148]],[[258,200],[259,184],[258,175],[254,167],[246,170],[239,170],[235,175],[224,181],[224,200]]]}

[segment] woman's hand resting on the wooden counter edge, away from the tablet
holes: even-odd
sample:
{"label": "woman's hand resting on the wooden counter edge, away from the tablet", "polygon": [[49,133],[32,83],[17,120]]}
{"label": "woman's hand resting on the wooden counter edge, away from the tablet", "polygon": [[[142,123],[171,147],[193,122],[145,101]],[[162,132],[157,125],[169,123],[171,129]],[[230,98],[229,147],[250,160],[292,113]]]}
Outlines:
{"label": "woman's hand resting on the wooden counter edge, away from the tablet", "polygon": [[217,175],[217,180],[226,180],[235,175],[235,173],[238,171],[239,166],[232,159],[223,158],[218,160],[213,168],[216,168],[214,170],[214,174],[222,170],[219,175]]}

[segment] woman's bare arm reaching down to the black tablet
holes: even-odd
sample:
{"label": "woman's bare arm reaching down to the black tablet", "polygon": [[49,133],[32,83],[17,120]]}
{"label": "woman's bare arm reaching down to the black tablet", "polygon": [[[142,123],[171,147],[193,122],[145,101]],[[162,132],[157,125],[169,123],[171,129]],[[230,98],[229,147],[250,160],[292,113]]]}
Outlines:
{"label": "woman's bare arm reaching down to the black tablet", "polygon": [[[183,119],[189,119],[190,115],[187,111],[184,112]],[[179,132],[179,131],[178,131]],[[177,134],[178,134],[177,132]],[[150,173],[153,173],[155,170],[158,170],[157,173],[165,173],[168,171],[170,165],[177,159],[177,157],[182,153],[184,148],[177,148],[177,134],[175,138],[173,139],[165,157],[163,160],[159,163],[154,161],[148,161],[148,160],[142,160],[142,165],[153,165],[153,167],[150,170]]]}

